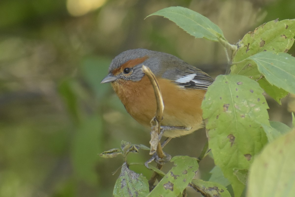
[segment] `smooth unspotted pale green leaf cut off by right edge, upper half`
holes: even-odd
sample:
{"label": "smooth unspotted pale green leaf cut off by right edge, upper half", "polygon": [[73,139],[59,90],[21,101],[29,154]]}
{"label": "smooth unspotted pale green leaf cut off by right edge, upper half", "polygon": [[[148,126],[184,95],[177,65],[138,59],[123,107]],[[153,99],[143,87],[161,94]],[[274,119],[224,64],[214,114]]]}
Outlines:
{"label": "smooth unspotted pale green leaf cut off by right edge, upper half", "polygon": [[287,53],[265,51],[247,58],[253,60],[266,80],[295,94],[295,58]]}

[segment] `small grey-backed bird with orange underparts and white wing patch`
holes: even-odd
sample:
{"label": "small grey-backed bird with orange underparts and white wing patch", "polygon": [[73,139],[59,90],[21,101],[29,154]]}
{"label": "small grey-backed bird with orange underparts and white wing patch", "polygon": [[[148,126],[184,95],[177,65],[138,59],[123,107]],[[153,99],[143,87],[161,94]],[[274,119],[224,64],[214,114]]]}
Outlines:
{"label": "small grey-backed bird with orange underparts and white wing patch", "polygon": [[156,76],[162,93],[163,136],[174,138],[201,128],[201,103],[214,80],[176,56],[142,48],[124,51],[112,60],[101,83],[111,82],[127,112],[140,124],[150,126],[157,105],[142,65]]}

